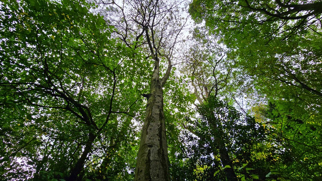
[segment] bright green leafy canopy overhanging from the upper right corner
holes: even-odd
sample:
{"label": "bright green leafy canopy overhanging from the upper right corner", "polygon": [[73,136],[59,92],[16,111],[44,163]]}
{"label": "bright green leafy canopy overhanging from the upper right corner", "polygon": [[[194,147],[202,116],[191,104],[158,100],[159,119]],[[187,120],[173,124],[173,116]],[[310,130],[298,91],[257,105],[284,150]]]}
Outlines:
{"label": "bright green leafy canopy overhanging from the upper right corner", "polygon": [[242,95],[288,100],[282,102],[293,113],[320,117],[321,12],[320,7],[304,8],[320,2],[198,2],[190,5],[192,17],[205,20],[227,46],[227,58],[236,61],[238,79],[246,83],[239,90]]}

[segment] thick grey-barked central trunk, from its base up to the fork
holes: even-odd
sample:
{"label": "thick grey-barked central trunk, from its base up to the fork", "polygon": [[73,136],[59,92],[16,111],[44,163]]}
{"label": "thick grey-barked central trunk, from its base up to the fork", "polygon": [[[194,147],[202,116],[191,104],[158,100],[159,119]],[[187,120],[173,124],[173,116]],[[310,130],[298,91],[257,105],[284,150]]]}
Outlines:
{"label": "thick grey-barked central trunk, from its base up to the fork", "polygon": [[150,92],[134,181],[169,181],[163,90],[156,70],[152,75]]}

